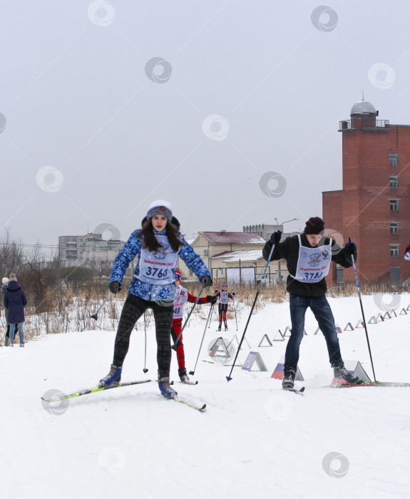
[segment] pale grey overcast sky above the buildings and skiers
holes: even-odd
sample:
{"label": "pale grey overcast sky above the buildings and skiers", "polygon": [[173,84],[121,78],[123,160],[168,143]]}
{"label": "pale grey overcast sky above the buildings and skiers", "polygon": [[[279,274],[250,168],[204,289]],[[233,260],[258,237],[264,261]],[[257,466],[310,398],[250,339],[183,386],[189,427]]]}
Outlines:
{"label": "pale grey overcast sky above the buildings and skiers", "polygon": [[410,124],[410,4],[3,0],[1,232],[127,240],[322,215],[362,100]]}

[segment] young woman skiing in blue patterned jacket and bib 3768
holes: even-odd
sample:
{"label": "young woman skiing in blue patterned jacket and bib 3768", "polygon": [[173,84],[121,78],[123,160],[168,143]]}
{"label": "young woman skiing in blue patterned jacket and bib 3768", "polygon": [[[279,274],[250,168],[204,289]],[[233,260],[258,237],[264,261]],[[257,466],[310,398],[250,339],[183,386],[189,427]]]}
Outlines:
{"label": "young woman skiing in blue patterned jacket and bib 3768", "polygon": [[[128,297],[121,312],[110,372],[100,380],[99,386],[118,384],[123,361],[130,346],[130,334],[135,322],[146,309],[152,309],[157,340],[158,387],[166,398],[177,392],[170,386],[173,302],[175,299],[175,266],[178,256],[192,270],[204,287],[212,284],[204,262],[185,241],[178,229],[169,202],[157,200],[148,207],[146,222],[135,230],[118,253],[110,277],[110,291],[121,289],[125,270],[138,257],[135,272],[128,288]],[[178,222],[178,221],[176,221]]]}

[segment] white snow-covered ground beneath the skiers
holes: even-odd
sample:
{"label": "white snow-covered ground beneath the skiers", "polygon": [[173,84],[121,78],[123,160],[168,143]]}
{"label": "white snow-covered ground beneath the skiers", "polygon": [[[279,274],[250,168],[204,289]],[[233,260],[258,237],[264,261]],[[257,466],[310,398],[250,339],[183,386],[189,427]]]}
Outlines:
{"label": "white snow-covered ground beneath the skiers", "polygon": [[[384,313],[380,299],[363,300],[367,321]],[[362,317],[357,297],[329,302],[342,329]],[[401,295],[397,317],[368,325],[379,381],[410,381],[410,312],[399,314],[409,304],[410,296]],[[230,320],[223,336],[240,339],[247,314],[238,331]],[[297,384],[306,391],[282,391],[270,376],[286,341],[257,345],[289,325],[287,303],[258,310],[246,339],[268,371],[235,367],[227,383],[231,367],[207,355],[219,336],[214,316],[195,370],[198,386],[175,383],[181,398],[206,402],[205,413],[158,396],[155,382],[72,398],[66,411],[46,411],[40,399],[46,391],[71,393],[107,374],[114,331],[41,336],[24,349],[1,348],[0,497],[409,498],[410,388],[327,388],[327,349],[308,312],[299,360],[305,381]],[[188,371],[204,327],[197,319],[184,332]],[[344,360],[362,362],[372,377],[364,329],[339,339]],[[242,362],[250,351],[244,346]],[[155,356],[150,328],[145,375],[144,334],[134,331],[123,381],[155,380]],[[175,354],[171,377],[178,379]]]}

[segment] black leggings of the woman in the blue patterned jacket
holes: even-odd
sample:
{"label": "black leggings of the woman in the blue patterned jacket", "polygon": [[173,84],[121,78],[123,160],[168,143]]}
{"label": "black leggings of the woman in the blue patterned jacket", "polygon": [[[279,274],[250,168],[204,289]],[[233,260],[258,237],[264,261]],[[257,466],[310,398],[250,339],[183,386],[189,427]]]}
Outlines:
{"label": "black leggings of the woman in the blue patterned jacket", "polygon": [[170,375],[171,364],[171,328],[173,326],[173,302],[168,306],[158,302],[148,302],[145,299],[128,294],[118,324],[116,345],[114,347],[113,364],[122,366],[130,346],[130,335],[136,321],[145,310],[152,309],[155,320],[155,336],[157,339],[158,378]]}

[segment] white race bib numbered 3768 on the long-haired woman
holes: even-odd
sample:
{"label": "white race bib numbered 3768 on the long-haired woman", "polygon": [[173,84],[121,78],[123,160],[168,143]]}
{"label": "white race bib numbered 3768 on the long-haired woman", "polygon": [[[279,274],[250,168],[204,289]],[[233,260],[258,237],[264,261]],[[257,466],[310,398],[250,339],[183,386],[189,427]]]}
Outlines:
{"label": "white race bib numbered 3768 on the long-haired woman", "polygon": [[173,269],[176,267],[178,252],[173,251],[168,237],[155,235],[162,245],[158,251],[141,249],[140,266],[137,279],[150,284],[170,284],[173,282]]}

